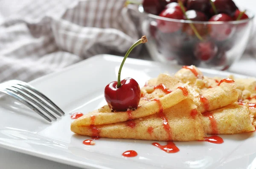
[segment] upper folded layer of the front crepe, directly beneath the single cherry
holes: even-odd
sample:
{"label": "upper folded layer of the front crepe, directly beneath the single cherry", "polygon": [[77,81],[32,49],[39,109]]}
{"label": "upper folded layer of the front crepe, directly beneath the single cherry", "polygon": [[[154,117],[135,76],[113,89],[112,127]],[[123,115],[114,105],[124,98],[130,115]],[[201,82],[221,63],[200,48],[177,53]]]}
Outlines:
{"label": "upper folded layer of the front crepe, directly beneath the single cherry", "polygon": [[[172,93],[166,94],[165,96],[159,98],[159,101],[163,105],[163,110],[165,110],[174,106],[175,104],[178,104],[180,101],[186,98],[187,96],[183,94],[182,90],[176,89],[172,91]],[[142,101],[143,100],[141,100],[141,102]],[[75,123],[77,126],[113,124],[127,121],[129,119],[146,117],[159,111],[158,103],[153,100],[146,101],[145,104],[141,104],[136,110],[126,112],[111,112],[111,109],[107,107],[108,106],[105,106],[102,109],[85,114],[73,121],[73,123]]]}

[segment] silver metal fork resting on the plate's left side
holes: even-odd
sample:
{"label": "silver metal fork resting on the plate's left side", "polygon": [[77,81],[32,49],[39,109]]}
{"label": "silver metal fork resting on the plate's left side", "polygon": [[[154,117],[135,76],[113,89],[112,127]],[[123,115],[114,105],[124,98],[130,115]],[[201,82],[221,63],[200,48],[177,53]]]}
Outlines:
{"label": "silver metal fork resting on the plate's left side", "polygon": [[[0,92],[11,96],[17,101],[20,101],[22,104],[35,111],[49,122],[52,122],[52,120],[47,117],[45,113],[47,113],[54,120],[57,120],[57,118],[52,115],[50,111],[60,117],[61,115],[65,114],[47,96],[45,96],[43,93],[39,92],[26,82],[22,82],[20,80],[10,80],[3,82],[0,84]],[[41,110],[39,110],[37,107]]]}

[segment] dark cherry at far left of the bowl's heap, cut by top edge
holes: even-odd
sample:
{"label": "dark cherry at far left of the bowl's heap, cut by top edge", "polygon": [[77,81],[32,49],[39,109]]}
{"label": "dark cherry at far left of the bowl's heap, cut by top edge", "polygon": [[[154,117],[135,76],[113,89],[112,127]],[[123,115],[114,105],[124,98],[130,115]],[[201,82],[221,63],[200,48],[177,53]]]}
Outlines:
{"label": "dark cherry at far left of the bowl's heap, cut by top edge", "polygon": [[166,0],[143,0],[142,6],[145,12],[158,15],[166,4]]}

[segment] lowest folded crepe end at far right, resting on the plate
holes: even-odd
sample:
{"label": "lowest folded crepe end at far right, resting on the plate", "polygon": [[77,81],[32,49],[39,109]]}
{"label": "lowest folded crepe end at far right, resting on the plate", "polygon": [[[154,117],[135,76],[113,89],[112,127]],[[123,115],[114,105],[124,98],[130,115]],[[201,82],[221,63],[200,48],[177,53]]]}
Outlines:
{"label": "lowest folded crepe end at far right, resting on the plate", "polygon": [[255,130],[249,108],[236,103],[204,114],[203,121],[207,134],[236,134]]}

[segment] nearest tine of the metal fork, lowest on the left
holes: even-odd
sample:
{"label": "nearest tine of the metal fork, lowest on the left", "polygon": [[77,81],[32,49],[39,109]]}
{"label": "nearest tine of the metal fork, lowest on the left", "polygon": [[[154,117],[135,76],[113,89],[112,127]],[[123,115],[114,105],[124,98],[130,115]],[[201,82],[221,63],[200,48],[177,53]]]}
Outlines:
{"label": "nearest tine of the metal fork, lowest on the left", "polygon": [[44,113],[42,113],[40,110],[38,110],[35,106],[33,106],[32,104],[30,104],[28,101],[26,101],[22,96],[19,96],[14,90],[11,89],[5,89],[4,90],[6,94],[8,94],[9,96],[12,96],[13,98],[17,99],[18,101],[20,101],[21,103],[23,103],[24,105],[26,105],[27,107],[29,107],[30,109],[34,110],[35,113],[38,113],[39,115],[41,115],[44,119],[46,119],[49,122],[52,122],[51,119],[49,119],[46,115],[44,115]]}

